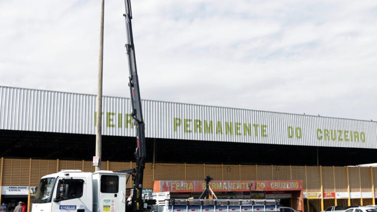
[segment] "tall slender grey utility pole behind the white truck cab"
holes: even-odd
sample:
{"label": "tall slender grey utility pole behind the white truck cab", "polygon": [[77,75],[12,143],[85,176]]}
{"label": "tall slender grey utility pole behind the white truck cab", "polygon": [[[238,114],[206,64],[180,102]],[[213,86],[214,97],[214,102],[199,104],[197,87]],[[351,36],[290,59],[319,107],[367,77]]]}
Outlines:
{"label": "tall slender grey utility pole behind the white truck cab", "polygon": [[97,94],[97,117],[96,117],[96,156],[99,157],[98,166],[96,171],[101,170],[102,161],[102,72],[104,61],[104,11],[105,0],[101,2],[101,32],[100,32],[100,57],[98,61],[98,94]]}

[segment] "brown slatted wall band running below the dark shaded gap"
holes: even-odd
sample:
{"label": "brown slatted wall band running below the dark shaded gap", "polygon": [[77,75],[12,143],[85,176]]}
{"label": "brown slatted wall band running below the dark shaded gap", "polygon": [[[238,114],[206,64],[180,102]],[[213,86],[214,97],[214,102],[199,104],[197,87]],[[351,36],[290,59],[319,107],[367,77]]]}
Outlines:
{"label": "brown slatted wall band running below the dark shaded gap", "polygon": [[[1,161],[0,161],[1,162]],[[3,159],[2,185],[37,186],[42,176],[61,169],[80,169],[94,172],[92,161]],[[119,171],[135,168],[135,162],[102,162],[103,170]],[[377,168],[372,168],[377,192]],[[144,188],[153,188],[154,180],[204,180],[210,175],[215,180],[302,180],[304,191],[320,191],[318,166],[222,165],[184,163],[146,163]],[[335,175],[334,175],[335,173]],[[323,192],[347,192],[346,167],[322,167]],[[349,167],[350,191],[370,192],[372,181],[369,167]],[[132,182],[128,183],[130,187]]]}

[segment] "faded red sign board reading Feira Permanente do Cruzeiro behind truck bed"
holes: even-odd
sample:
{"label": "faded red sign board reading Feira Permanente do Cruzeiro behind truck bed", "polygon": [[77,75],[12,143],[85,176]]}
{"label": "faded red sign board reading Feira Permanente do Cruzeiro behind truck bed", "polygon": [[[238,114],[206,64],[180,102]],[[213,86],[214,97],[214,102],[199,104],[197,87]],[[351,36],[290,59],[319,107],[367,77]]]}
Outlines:
{"label": "faded red sign board reading Feira Permanente do Cruzeiro behind truck bed", "polygon": [[[281,191],[302,190],[302,181],[211,181],[213,191]],[[155,192],[201,192],[205,181],[155,181]]]}

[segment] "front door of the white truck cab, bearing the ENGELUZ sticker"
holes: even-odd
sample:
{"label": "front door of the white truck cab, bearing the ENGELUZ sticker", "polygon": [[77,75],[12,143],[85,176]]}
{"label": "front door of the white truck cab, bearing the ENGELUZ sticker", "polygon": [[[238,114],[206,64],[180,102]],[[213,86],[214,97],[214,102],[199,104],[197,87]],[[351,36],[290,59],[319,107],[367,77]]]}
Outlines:
{"label": "front door of the white truck cab, bearing the ENGELUZ sticker", "polygon": [[88,212],[86,183],[82,178],[59,179],[56,182],[52,212]]}

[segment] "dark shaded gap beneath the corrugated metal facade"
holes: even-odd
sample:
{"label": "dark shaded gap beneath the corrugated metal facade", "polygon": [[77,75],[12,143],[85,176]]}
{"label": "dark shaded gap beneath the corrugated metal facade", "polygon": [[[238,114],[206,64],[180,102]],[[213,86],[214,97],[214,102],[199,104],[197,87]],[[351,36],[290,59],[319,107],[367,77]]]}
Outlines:
{"label": "dark shaded gap beneath the corrugated metal facade", "polygon": [[[146,142],[147,162],[344,166],[376,162],[377,154],[377,149],[153,138]],[[103,136],[102,143],[103,160],[135,160],[134,137]],[[0,130],[0,157],[92,160],[94,153],[95,135]]]}

